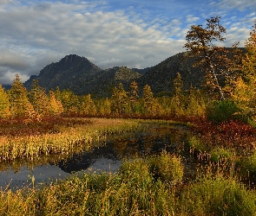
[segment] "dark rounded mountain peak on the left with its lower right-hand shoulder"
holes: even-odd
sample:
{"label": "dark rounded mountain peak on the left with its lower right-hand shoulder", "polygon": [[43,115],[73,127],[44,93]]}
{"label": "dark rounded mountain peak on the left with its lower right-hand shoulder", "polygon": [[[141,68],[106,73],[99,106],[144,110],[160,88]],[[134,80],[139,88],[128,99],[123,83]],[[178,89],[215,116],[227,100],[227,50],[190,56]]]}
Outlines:
{"label": "dark rounded mountain peak on the left with its lower right-hand shoulder", "polygon": [[87,58],[69,54],[59,62],[44,67],[38,76],[31,76],[24,86],[30,89],[33,79],[37,79],[39,86],[43,86],[46,91],[59,86],[61,90],[69,88],[78,95],[90,93],[94,96],[109,97],[113,86],[120,82],[124,86],[128,86],[131,80],[139,77],[141,77],[141,73],[128,67],[102,70]]}

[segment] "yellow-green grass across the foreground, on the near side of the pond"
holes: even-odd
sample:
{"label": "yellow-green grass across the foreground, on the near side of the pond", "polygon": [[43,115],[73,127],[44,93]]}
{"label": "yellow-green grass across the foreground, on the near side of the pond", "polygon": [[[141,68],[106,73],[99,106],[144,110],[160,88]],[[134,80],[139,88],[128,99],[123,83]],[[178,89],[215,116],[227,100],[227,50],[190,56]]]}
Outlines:
{"label": "yellow-green grass across the foreground, on the near side of the pond", "polygon": [[[158,169],[155,161],[176,164],[181,175]],[[41,189],[2,191],[2,215],[255,215],[256,194],[235,178],[203,176],[182,184],[181,158],[160,156],[123,162],[114,175],[79,173]],[[172,183],[170,183],[172,182]],[[175,181],[178,182],[178,181]]]}

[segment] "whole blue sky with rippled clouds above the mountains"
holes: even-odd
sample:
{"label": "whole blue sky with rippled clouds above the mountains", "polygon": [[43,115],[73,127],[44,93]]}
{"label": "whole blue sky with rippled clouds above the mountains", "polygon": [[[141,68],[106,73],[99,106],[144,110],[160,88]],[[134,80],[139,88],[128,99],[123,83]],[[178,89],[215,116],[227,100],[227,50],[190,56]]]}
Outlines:
{"label": "whole blue sky with rippled clouds above the mountains", "polygon": [[96,66],[154,67],[186,51],[192,25],[220,16],[226,41],[244,47],[255,0],[0,0],[0,84],[22,81],[68,54]]}

